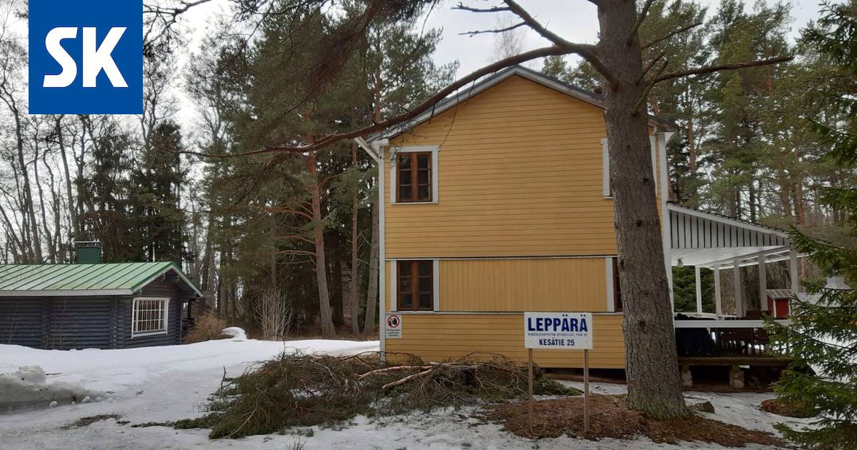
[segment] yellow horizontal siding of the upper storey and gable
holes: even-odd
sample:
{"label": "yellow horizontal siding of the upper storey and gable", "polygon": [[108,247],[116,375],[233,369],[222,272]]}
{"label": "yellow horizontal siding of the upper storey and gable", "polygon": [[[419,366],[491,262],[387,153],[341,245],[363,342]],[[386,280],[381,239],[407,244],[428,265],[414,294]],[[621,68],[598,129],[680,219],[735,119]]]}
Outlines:
{"label": "yellow horizontal siding of the upper storey and gable", "polygon": [[387,257],[614,255],[605,136],[601,109],[518,76],[417,126],[392,144],[440,146],[439,199],[385,195]]}

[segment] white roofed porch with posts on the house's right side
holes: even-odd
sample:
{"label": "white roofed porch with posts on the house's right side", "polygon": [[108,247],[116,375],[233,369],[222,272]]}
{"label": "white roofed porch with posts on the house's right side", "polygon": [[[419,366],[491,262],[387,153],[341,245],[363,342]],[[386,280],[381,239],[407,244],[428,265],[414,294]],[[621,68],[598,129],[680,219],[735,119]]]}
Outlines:
{"label": "white roofed porch with posts on the house's right side", "polygon": [[[771,263],[788,261],[788,289],[782,285],[776,291],[800,290],[798,258],[786,231],[721,214],[705,213],[691,207],[667,203],[665,222],[669,230],[664,231],[664,251],[673,296],[673,267],[694,267],[696,274],[696,310],[674,312],[674,327],[679,361],[682,364],[682,381],[692,383],[692,365],[727,365],[730,384],[744,386],[744,373],[739,366],[782,366],[784,361],[767,351],[768,333],[764,330],[763,315],[768,311],[769,286],[767,271]],[[758,309],[755,302],[746,297],[741,276],[741,267],[757,267]],[[714,275],[713,312],[703,310],[702,269],[710,269]],[[731,289],[734,301],[724,303],[723,272],[732,276]],[[728,284],[728,283],[726,283]],[[728,287],[727,287],[728,288]],[[782,294],[779,294],[782,296]],[[788,296],[790,297],[790,296]],[[674,300],[674,297],[673,297]],[[779,300],[788,302],[785,300]],[[753,307],[748,309],[750,303]],[[674,304],[674,303],[673,303]],[[772,302],[775,306],[777,302]],[[788,311],[786,308],[779,312]],[[775,315],[776,316],[776,315]],[[782,315],[788,322],[788,315]]]}

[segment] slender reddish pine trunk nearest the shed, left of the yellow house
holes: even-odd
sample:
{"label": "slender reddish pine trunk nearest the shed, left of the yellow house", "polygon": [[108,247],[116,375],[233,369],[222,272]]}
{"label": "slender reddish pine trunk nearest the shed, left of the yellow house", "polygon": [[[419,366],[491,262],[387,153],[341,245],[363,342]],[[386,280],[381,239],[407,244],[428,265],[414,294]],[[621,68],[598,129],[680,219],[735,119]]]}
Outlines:
{"label": "slender reddish pine trunk nearest the shed, left of the yellow house", "polygon": [[333,336],[333,310],[330,308],[330,290],[327,287],[327,259],[324,254],[324,221],[321,217],[321,192],[319,189],[318,166],[315,152],[309,152],[307,170],[312,183],[313,243],[315,244],[315,279],[319,291],[319,315],[321,316],[321,334]]}

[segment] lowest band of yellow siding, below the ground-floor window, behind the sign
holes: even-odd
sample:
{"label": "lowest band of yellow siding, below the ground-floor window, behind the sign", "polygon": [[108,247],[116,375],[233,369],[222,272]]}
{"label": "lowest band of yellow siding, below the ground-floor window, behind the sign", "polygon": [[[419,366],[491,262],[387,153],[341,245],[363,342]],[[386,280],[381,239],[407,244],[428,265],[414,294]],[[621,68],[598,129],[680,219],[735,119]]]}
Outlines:
{"label": "lowest band of yellow siding, below the ground-floor window, behind the sign", "polygon": [[[525,362],[524,315],[520,314],[402,314],[402,338],[386,339],[387,351],[412,353],[425,361],[444,361],[471,351],[494,352]],[[622,316],[593,315],[590,367],[625,368]],[[394,355],[391,355],[395,359]],[[583,351],[536,350],[541,367],[583,367]]]}

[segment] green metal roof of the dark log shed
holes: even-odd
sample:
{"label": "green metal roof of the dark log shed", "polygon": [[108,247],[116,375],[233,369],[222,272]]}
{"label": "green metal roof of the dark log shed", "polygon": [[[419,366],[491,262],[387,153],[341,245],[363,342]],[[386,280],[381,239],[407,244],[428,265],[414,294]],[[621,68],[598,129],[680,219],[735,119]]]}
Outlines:
{"label": "green metal roof of the dark log shed", "polygon": [[174,262],[116,264],[0,264],[0,297],[130,295],[153,279],[175,272],[196,295],[202,293]]}

